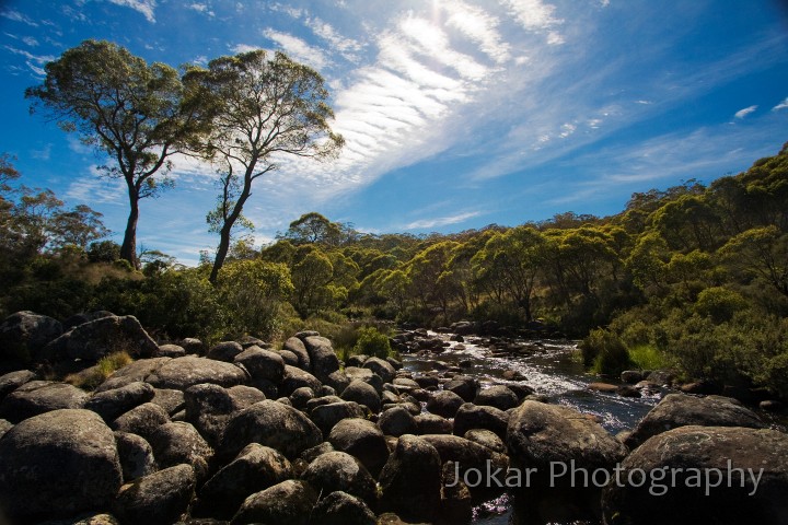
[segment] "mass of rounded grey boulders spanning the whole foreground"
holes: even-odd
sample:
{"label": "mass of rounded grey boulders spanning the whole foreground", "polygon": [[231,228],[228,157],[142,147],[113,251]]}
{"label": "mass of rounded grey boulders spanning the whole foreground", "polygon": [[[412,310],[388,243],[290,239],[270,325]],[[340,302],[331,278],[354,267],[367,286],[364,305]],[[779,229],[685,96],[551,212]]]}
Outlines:
{"label": "mass of rounded grey boulders spanning the whole foreground", "polygon": [[[515,374],[482,389],[461,368],[341,363],[310,331],[176,342],[109,313],[0,325],[9,523],[455,524],[505,490],[521,524],[788,523],[788,435],[730,398],[671,394],[614,436]],[[118,351],[134,362],[92,392],[44,378]]]}

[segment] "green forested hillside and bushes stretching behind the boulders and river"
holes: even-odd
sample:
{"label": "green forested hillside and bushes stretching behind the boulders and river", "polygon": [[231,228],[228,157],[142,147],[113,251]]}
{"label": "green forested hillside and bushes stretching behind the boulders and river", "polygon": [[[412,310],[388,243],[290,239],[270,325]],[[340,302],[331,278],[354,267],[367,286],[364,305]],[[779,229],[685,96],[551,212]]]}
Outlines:
{"label": "green forested hillside and bushes stretching behind the boulders and river", "polygon": [[588,336],[584,358],[601,372],[657,363],[788,396],[788,144],[708,187],[634,194],[606,218],[414,236],[308,213],[262,250],[236,241],[215,283],[210,257],[185,268],[149,252],[135,270],[101,241],[97,213],[20,180],[3,158],[3,317],[108,310],[161,339],[209,341],[373,319],[549,327]]}

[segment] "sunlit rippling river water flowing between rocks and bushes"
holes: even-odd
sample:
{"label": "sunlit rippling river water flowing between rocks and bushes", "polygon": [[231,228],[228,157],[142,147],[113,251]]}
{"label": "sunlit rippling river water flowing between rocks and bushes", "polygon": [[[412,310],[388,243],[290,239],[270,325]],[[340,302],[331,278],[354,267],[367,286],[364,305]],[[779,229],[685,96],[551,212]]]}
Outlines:
{"label": "sunlit rippling river water flowing between rocks and bushes", "polygon": [[[449,335],[439,337],[449,340]],[[500,354],[483,340],[468,338],[462,343],[451,341],[443,352],[429,357],[405,354],[403,364],[414,373],[436,370],[436,361],[449,368],[461,368],[464,375],[478,378],[483,388],[524,383],[536,394],[548,396],[551,402],[593,415],[613,434],[631,429],[661,399],[660,392],[629,398],[590,390],[589,384],[600,380],[586,373],[576,358],[576,351],[575,341],[541,340],[524,342],[521,351]],[[503,378],[506,371],[520,372],[525,378],[522,382],[507,381]],[[475,514],[474,524],[505,525],[509,523],[511,510],[507,497],[502,495],[477,508]]]}

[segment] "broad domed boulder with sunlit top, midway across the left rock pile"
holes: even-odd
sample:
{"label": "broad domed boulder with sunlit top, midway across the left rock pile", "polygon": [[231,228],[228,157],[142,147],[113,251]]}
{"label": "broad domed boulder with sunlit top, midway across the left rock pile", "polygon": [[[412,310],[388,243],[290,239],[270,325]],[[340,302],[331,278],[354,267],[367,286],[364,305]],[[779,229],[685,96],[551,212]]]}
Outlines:
{"label": "broad domed boulder with sunlit top, midway across the left rock pile", "polygon": [[233,415],[224,428],[219,452],[223,457],[234,457],[250,443],[259,443],[294,458],[321,442],[320,429],[302,412],[265,400]]}

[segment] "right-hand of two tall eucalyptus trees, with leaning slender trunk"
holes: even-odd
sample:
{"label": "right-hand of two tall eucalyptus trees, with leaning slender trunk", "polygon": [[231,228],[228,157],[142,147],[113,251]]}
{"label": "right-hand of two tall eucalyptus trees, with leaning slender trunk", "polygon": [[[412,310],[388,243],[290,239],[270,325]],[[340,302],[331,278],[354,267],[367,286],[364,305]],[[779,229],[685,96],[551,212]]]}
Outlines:
{"label": "right-hand of two tall eucalyptus trees, with leaning slender trunk", "polygon": [[231,244],[232,229],[252,196],[252,185],[276,170],[282,155],[326,159],[344,141],[328,120],[323,78],[281,52],[263,50],[211,60],[184,77],[195,98],[209,110],[212,129],[201,153],[219,166],[221,195],[209,222],[219,232],[211,282],[217,281]]}

